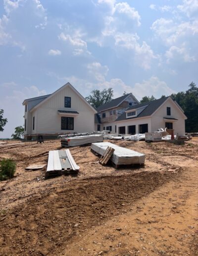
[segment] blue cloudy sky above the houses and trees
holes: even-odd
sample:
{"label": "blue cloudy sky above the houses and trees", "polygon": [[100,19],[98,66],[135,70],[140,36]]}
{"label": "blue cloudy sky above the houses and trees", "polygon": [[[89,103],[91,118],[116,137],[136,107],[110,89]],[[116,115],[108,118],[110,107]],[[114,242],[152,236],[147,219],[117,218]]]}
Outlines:
{"label": "blue cloudy sky above the houses and trees", "polygon": [[198,0],[0,0],[0,137],[25,98],[70,82],[139,100],[198,84]]}

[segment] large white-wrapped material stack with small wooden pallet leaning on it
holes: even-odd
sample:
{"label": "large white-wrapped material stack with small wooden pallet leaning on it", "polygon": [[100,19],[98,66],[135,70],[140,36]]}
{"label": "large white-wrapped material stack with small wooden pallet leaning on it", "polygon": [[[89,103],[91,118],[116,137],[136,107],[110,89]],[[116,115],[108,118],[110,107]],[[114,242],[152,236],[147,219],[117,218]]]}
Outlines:
{"label": "large white-wrapped material stack with small wooden pallet leaning on it", "polygon": [[145,155],[128,148],[117,146],[110,142],[92,143],[91,150],[99,155],[103,155],[107,147],[114,148],[114,152],[110,158],[111,162],[118,168],[129,165],[144,165]]}

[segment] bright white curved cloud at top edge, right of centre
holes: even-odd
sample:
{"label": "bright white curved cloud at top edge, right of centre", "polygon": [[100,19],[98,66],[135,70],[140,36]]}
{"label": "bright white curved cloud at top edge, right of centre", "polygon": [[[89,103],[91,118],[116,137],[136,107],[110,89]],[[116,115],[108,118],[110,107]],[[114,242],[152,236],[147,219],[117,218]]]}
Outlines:
{"label": "bright white curved cloud at top edge, right of centre", "polygon": [[137,25],[141,25],[141,17],[138,13],[138,11],[134,8],[131,7],[127,2],[119,2],[116,3],[114,8],[113,8],[113,14],[115,13],[122,13],[128,16],[130,19],[133,19],[137,22]]}

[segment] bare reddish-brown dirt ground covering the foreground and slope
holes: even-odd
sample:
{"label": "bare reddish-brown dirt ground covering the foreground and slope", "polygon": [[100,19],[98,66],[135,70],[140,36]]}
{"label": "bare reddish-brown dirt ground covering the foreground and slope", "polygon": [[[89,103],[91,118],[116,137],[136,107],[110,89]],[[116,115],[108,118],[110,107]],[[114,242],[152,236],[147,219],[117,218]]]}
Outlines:
{"label": "bare reddish-brown dirt ground covering the foreground and slope", "polygon": [[25,167],[47,163],[59,140],[0,147],[17,162],[0,182],[0,256],[198,255],[198,138],[113,143],[146,154],[145,167],[104,167],[74,147],[80,173],[45,180]]}

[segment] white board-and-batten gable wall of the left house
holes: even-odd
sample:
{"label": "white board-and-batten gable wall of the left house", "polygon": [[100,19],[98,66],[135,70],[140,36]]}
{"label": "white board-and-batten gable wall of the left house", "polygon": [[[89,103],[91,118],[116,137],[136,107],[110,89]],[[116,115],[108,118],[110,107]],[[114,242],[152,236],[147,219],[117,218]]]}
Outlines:
{"label": "white board-and-batten gable wall of the left house", "polygon": [[[71,108],[64,107],[64,97],[71,97]],[[77,111],[79,113],[78,116],[74,116],[73,130],[61,130],[61,117],[66,117],[66,115],[59,115],[58,110]],[[37,133],[94,131],[94,114],[94,110],[73,89],[67,86],[38,107],[35,119]]]}

